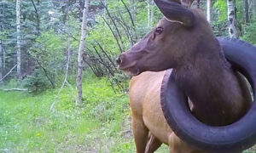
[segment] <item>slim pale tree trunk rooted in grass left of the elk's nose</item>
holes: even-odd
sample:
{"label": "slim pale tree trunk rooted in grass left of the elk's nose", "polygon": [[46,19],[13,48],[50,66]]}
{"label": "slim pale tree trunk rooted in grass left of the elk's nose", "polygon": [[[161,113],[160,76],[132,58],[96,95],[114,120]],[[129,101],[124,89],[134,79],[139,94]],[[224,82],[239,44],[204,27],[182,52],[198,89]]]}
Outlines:
{"label": "slim pale tree trunk rooted in grass left of the elk's nose", "polygon": [[82,79],[83,79],[83,51],[84,43],[86,37],[86,26],[88,18],[89,0],[84,0],[84,10],[83,10],[83,21],[81,28],[81,39],[79,44],[79,58],[78,58],[78,74],[77,74],[77,88],[78,88],[78,99],[77,103],[82,103],[83,100],[83,90],[82,90]]}

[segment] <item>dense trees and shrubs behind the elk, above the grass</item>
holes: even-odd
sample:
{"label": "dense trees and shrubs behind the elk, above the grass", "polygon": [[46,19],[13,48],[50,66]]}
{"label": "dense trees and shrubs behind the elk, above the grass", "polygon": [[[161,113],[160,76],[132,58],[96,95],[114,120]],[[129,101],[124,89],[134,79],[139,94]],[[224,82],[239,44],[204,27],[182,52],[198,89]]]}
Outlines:
{"label": "dense trees and shrubs behind the elk, above the grass", "polygon": [[[256,43],[255,1],[199,2],[217,36]],[[115,57],[161,18],[152,0],[92,1],[85,16],[84,1],[1,1],[0,7],[0,76],[9,73],[1,82],[16,80],[32,93],[60,86],[67,62],[67,82],[84,69],[96,77],[108,77],[114,90],[124,91],[122,82],[128,77],[116,69]],[[83,49],[79,40],[85,36]]]}

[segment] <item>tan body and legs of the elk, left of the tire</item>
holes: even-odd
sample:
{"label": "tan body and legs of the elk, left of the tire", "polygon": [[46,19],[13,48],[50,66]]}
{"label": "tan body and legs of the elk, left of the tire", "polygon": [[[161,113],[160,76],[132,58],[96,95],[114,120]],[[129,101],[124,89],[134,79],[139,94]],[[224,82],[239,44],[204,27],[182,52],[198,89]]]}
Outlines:
{"label": "tan body and legs of the elk, left of the tire", "polygon": [[131,124],[137,153],[154,152],[162,143],[168,144],[172,153],[202,152],[178,139],[165,120],[160,105],[160,85],[164,74],[165,71],[148,71],[131,79]]}

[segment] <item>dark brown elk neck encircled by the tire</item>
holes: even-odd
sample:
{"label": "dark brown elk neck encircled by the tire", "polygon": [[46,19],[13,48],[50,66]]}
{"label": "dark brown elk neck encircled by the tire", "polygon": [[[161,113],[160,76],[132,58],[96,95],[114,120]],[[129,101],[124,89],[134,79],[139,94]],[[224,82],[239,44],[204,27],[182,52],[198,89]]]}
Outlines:
{"label": "dark brown elk neck encircled by the tire", "polygon": [[224,58],[217,39],[205,39],[183,57],[174,74],[193,103],[193,114],[212,126],[235,122],[247,111],[241,82]]}

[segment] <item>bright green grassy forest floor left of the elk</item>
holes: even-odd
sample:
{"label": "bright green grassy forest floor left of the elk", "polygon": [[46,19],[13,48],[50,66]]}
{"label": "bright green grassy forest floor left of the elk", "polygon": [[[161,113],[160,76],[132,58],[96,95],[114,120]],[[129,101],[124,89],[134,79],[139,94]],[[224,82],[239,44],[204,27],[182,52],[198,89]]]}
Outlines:
{"label": "bright green grassy forest floor left of the elk", "polygon": [[[114,94],[106,79],[84,82],[84,105],[79,107],[70,88],[55,99],[57,93],[0,91],[0,152],[135,152],[128,96]],[[157,152],[168,149],[163,144]]]}

